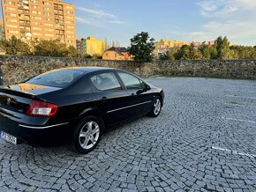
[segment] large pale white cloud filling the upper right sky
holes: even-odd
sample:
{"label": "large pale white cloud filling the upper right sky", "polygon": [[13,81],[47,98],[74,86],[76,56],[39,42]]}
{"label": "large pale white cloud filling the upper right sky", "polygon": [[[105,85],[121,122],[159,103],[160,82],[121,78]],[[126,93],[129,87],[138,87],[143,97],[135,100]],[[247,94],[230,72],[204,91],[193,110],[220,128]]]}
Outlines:
{"label": "large pale white cloud filling the upper right sky", "polygon": [[256,45],[255,0],[200,0],[197,4],[207,22],[199,31],[184,33],[186,39],[210,41],[222,35],[237,44]]}

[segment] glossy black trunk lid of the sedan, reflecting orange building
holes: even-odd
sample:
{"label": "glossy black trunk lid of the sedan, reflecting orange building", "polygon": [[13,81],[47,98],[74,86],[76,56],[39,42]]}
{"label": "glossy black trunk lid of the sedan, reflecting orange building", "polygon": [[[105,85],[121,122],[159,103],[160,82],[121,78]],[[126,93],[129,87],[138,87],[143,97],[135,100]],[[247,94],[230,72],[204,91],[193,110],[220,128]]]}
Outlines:
{"label": "glossy black trunk lid of the sedan, reflecting orange building", "polygon": [[54,92],[54,91],[62,89],[59,87],[35,85],[35,84],[28,84],[28,83],[5,85],[5,86],[2,86],[1,88],[10,90],[10,91],[29,93],[29,94],[33,94],[33,95],[40,95],[40,94]]}

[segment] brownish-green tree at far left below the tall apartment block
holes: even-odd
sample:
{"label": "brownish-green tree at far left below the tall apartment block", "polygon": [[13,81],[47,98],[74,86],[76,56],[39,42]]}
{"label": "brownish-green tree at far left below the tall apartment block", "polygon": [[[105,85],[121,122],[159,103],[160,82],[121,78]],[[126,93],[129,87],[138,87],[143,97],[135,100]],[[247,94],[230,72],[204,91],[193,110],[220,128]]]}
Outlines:
{"label": "brownish-green tree at far left below the tall apartment block", "polygon": [[7,55],[31,55],[30,46],[15,36],[1,41],[0,46],[5,49]]}

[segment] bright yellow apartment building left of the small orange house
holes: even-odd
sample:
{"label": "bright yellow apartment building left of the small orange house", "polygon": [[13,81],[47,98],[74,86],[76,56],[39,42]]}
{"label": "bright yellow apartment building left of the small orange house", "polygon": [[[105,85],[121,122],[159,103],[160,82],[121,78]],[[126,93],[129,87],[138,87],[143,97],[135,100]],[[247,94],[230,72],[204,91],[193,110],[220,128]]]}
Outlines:
{"label": "bright yellow apartment building left of the small orange house", "polygon": [[79,55],[102,55],[105,48],[105,41],[99,41],[95,37],[77,40],[77,52]]}

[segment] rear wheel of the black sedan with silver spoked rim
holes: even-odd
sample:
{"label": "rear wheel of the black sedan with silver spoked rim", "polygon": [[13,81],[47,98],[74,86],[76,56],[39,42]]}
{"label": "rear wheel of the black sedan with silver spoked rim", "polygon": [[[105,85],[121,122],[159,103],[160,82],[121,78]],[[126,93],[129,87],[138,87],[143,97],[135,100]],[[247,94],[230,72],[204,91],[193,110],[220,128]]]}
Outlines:
{"label": "rear wheel of the black sedan with silver spoked rim", "polygon": [[93,151],[99,144],[104,123],[95,116],[87,116],[79,122],[72,136],[72,148],[82,154]]}

